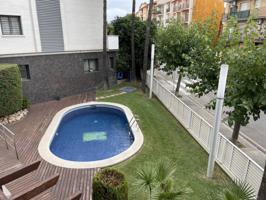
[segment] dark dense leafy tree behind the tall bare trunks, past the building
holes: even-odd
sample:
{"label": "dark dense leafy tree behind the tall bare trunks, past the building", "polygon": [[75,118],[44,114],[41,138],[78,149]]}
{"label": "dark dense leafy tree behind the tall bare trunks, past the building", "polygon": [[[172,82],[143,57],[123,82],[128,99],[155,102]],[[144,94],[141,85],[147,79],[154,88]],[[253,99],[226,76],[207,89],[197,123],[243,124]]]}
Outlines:
{"label": "dark dense leafy tree behind the tall bare trunks, past the building", "polygon": [[[111,22],[112,33],[119,35],[119,52],[117,61],[117,71],[127,72],[131,66],[131,15],[125,17],[117,17]],[[143,51],[145,41],[146,23],[139,18],[135,18],[135,63],[136,63],[136,77],[141,78],[140,71],[143,66]],[[152,24],[151,38],[154,38],[156,27]]]}

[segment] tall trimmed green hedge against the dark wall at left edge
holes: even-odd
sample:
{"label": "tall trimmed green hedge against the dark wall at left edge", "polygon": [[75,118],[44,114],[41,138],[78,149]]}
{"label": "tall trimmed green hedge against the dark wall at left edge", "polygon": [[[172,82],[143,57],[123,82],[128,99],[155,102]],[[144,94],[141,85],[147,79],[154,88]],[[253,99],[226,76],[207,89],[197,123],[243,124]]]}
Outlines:
{"label": "tall trimmed green hedge against the dark wall at left edge", "polygon": [[22,108],[22,83],[17,65],[0,64],[0,117]]}

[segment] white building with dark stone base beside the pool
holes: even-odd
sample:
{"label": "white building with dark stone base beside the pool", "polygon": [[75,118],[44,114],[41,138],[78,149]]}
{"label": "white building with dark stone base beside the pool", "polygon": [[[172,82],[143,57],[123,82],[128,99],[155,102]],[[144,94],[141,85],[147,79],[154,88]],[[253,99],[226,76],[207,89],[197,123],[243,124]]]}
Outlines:
{"label": "white building with dark stone base beside the pool", "polygon": [[[103,84],[103,0],[0,0],[0,63],[19,65],[24,94],[42,102]],[[110,78],[118,37],[108,37]]]}

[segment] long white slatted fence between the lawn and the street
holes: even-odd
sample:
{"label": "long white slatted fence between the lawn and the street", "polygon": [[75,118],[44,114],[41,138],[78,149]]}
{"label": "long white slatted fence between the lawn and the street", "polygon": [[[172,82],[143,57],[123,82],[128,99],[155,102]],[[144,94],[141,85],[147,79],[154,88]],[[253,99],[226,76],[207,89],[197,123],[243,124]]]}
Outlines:
{"label": "long white slatted fence between the lawn and the street", "polygon": [[[149,85],[150,75],[148,72],[147,86],[150,87]],[[165,88],[156,78],[153,78],[152,91],[195,140],[209,152],[210,134],[213,126],[177,98],[175,94]],[[216,163],[220,165],[232,180],[245,181],[258,193],[263,176],[263,168],[221,133],[218,135],[217,143]]]}

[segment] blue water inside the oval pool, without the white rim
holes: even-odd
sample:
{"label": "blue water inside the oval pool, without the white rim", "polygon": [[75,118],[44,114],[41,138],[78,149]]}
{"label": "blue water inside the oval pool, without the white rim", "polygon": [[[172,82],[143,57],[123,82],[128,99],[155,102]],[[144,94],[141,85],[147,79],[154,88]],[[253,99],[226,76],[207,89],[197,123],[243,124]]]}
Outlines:
{"label": "blue water inside the oval pool, without the white rim", "polygon": [[127,150],[133,140],[122,111],[94,106],[65,115],[50,150],[65,160],[97,161]]}

